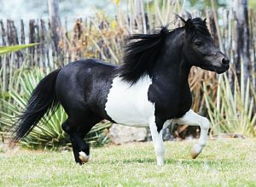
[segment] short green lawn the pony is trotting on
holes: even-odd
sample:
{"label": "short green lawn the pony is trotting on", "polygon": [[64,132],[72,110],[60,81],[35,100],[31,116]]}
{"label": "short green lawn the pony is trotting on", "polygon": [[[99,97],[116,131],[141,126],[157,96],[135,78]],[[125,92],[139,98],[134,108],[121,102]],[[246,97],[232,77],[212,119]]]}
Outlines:
{"label": "short green lawn the pony is trotting on", "polygon": [[166,142],[164,167],[150,143],[92,149],[82,167],[71,151],[0,150],[0,186],[256,186],[256,139],[210,140],[192,160],[194,143]]}

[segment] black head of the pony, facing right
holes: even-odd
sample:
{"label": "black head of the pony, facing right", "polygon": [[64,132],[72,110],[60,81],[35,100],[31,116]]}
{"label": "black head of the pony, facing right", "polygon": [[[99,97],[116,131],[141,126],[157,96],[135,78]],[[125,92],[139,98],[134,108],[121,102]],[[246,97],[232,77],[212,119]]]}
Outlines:
{"label": "black head of the pony, facing right", "polygon": [[230,59],[214,45],[206,20],[195,18],[183,22],[185,23],[183,53],[186,61],[207,71],[223,73],[229,70]]}

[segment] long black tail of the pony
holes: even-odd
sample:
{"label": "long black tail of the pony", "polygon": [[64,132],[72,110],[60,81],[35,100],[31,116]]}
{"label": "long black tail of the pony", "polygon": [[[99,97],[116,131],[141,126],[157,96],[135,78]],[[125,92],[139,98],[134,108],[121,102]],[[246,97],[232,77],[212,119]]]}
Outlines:
{"label": "long black tail of the pony", "polygon": [[60,71],[61,69],[58,69],[49,73],[33,90],[26,110],[22,112],[15,124],[13,140],[22,139],[44,115],[47,116],[50,111],[54,112],[58,108],[59,101],[55,95],[55,82]]}

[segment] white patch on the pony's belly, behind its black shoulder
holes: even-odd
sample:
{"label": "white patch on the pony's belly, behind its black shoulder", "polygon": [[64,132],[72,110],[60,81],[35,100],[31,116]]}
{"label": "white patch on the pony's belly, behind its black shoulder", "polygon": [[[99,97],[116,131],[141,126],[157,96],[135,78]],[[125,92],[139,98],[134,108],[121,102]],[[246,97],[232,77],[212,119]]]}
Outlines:
{"label": "white patch on the pony's belly, behind its black shoulder", "polygon": [[114,122],[131,127],[148,127],[148,118],[154,116],[154,104],[148,101],[152,80],[142,77],[132,86],[120,77],[113,79],[105,111]]}

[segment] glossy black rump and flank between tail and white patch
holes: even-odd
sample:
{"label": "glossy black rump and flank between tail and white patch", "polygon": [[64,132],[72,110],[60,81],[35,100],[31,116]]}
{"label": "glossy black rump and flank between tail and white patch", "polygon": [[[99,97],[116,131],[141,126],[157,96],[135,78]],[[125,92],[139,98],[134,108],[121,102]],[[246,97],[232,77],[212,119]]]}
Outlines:
{"label": "glossy black rump and flank between tail and white patch", "polygon": [[63,67],[56,80],[56,96],[67,115],[94,112],[102,118],[115,65],[99,59],[82,59]]}

